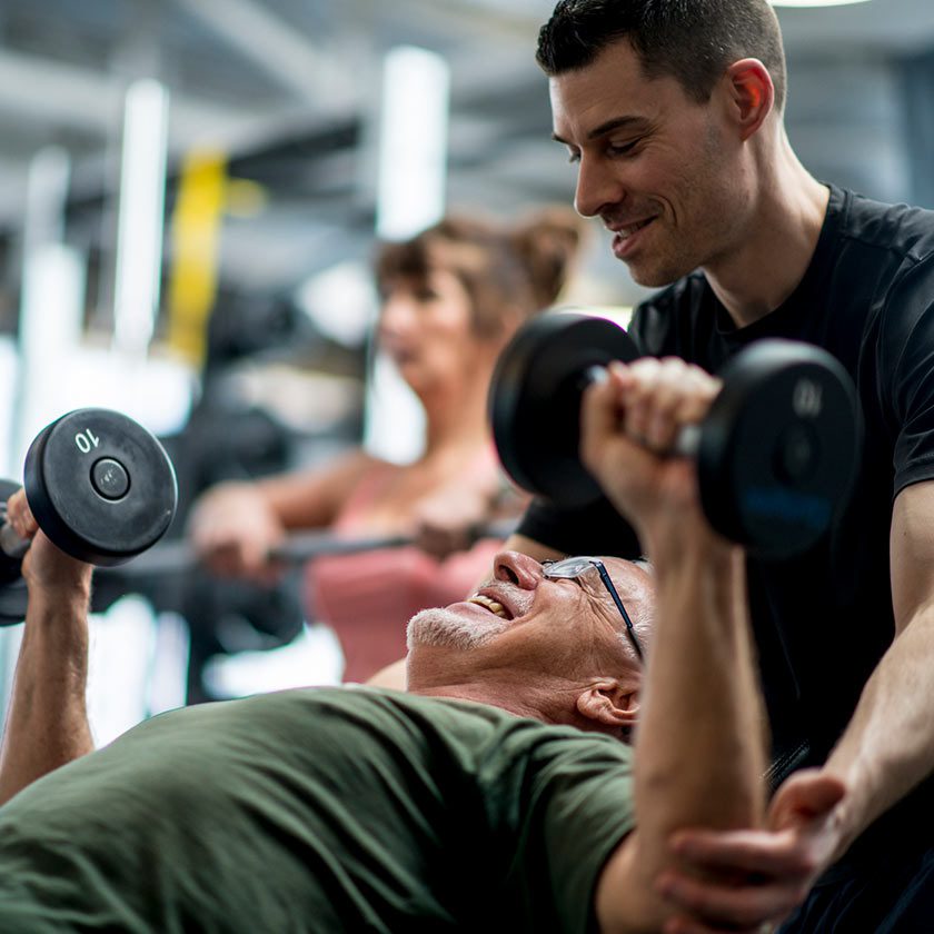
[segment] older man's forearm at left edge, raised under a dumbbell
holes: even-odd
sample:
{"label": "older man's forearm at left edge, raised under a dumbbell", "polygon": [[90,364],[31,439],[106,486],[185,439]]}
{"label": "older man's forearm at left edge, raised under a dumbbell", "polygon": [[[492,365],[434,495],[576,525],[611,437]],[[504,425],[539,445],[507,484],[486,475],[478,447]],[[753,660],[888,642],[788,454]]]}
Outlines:
{"label": "older man's forearm at left edge, raised under a dumbbell", "polygon": [[29,604],[0,745],[0,804],[93,749],[85,700],[92,568],[36,531],[24,497],[11,501],[10,517],[34,538],[23,559]]}

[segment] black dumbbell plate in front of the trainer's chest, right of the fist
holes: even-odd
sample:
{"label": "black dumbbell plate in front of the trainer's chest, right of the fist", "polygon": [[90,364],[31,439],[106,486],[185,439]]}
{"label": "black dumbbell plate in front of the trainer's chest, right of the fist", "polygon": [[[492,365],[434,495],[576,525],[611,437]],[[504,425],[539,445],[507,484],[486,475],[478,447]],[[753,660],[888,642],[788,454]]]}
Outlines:
{"label": "black dumbbell plate in front of the trainer's chest, right of the fist", "polygon": [[763,340],[723,371],[697,470],[704,509],[763,557],[813,547],[845,504],[858,465],[855,390],[826,351]]}

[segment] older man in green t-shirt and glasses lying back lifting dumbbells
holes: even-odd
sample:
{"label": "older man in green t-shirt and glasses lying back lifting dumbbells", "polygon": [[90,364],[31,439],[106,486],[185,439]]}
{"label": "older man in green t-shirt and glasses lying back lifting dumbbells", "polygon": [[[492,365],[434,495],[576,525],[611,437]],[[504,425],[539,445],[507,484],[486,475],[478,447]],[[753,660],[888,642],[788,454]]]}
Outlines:
{"label": "older man in green t-shirt and glasses lying back lifting dumbbells", "polygon": [[[407,694],[188,707],[90,753],[90,568],[16,495],[10,521],[33,540],[0,930],[660,930],[668,837],[761,826],[766,741],[742,552],[708,526],[692,463],[619,427],[647,407],[674,434],[709,394],[675,409],[680,374],[630,376],[588,390],[584,448],[648,545],[655,603],[625,560],[604,577],[590,558],[503,553],[473,600],[413,618]],[[826,812],[842,789],[811,791]]]}

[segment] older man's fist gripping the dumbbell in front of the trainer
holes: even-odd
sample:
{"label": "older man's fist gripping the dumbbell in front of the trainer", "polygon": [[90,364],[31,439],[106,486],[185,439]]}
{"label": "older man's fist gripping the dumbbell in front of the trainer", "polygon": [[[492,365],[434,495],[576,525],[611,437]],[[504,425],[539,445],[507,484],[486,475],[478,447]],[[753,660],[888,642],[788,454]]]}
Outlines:
{"label": "older man's fist gripping the dumbbell in front of the trainer", "polygon": [[677,357],[610,364],[587,388],[580,455],[614,505],[637,527],[664,513],[699,514],[696,468],[672,457],[680,429],[699,421],[718,379]]}

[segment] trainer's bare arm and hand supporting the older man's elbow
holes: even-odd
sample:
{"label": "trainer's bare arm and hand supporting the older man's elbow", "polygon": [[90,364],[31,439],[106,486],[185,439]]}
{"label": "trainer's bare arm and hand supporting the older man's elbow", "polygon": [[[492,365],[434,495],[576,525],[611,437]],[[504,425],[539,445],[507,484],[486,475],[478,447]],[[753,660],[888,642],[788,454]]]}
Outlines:
{"label": "trainer's bare arm and hand supporting the older man's elbow", "polygon": [[[819,769],[796,772],[769,805],[769,831],[682,834],[692,860],[670,897],[688,914],[733,922],[778,922],[824,871],[890,806],[931,774],[934,763],[934,484],[904,489],[891,533],[895,639]],[[698,884],[705,866],[731,866],[744,886]]]}

